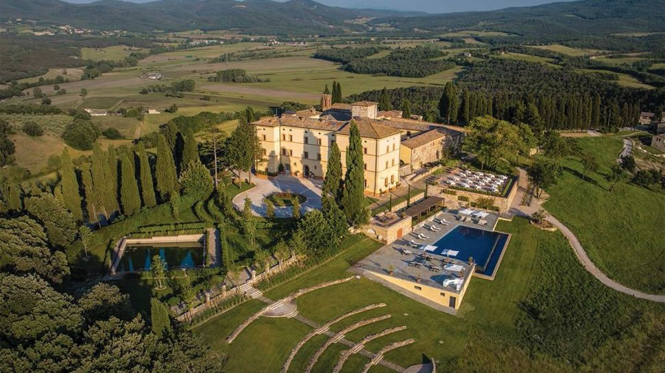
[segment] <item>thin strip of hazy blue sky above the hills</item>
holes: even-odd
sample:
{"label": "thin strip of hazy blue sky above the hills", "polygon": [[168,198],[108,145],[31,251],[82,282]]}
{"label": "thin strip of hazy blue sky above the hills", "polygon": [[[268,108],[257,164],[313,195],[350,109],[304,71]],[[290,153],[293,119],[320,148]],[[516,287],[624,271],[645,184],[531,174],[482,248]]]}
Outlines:
{"label": "thin strip of hazy blue sky above the hills", "polygon": [[[93,0],[65,0],[70,3],[90,3]],[[151,0],[128,0],[146,3]],[[278,0],[286,1],[286,0]],[[319,3],[345,8],[375,8],[417,10],[430,13],[463,12],[465,10],[494,10],[513,6],[528,6],[566,0],[315,0]],[[570,0],[568,0],[570,1]]]}

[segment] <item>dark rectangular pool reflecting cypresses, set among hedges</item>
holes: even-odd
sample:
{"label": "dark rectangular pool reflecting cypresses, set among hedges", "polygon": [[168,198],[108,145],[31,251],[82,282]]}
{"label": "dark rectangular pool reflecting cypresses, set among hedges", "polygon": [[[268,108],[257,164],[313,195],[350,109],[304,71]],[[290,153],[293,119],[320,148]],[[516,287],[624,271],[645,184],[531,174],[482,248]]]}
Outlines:
{"label": "dark rectangular pool reflecting cypresses, set among hedges", "polygon": [[178,242],[165,244],[132,244],[117,266],[117,272],[140,272],[150,270],[152,257],[159,255],[166,263],[167,270],[174,268],[195,268],[203,266],[204,253],[200,242]]}

